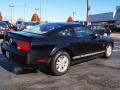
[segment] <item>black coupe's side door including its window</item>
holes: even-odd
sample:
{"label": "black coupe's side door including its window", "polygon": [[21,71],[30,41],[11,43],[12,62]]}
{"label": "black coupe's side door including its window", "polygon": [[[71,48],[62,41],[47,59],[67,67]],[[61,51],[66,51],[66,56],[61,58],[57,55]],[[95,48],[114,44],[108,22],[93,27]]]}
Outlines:
{"label": "black coupe's side door including its window", "polygon": [[[74,26],[74,31],[79,45],[79,54],[95,53],[102,50],[102,43],[99,36],[95,36],[94,32],[84,26]],[[82,42],[82,46],[81,46]],[[82,49],[81,49],[82,48]],[[82,53],[81,53],[82,52]]]}

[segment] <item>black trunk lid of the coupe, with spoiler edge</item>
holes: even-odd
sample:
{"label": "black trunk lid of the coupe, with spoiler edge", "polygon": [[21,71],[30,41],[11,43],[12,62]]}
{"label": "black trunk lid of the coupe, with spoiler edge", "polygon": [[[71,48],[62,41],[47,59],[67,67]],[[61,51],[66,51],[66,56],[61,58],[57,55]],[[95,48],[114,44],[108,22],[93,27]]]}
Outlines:
{"label": "black trunk lid of the coupe, with spoiler edge", "polygon": [[25,31],[20,31],[20,32],[6,32],[4,36],[4,43],[7,43],[13,48],[17,49],[17,44],[19,41],[27,41],[31,43],[31,40],[33,38],[41,37],[43,38],[43,35],[39,34],[34,34],[34,33],[29,33]]}

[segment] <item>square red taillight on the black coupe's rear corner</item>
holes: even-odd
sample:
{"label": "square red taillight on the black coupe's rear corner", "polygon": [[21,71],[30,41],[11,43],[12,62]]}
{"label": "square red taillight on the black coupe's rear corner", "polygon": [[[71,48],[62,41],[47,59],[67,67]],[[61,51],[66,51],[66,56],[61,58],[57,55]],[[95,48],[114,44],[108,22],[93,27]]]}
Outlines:
{"label": "square red taillight on the black coupe's rear corner", "polygon": [[28,52],[30,50],[30,43],[28,41],[18,41],[17,49]]}

